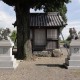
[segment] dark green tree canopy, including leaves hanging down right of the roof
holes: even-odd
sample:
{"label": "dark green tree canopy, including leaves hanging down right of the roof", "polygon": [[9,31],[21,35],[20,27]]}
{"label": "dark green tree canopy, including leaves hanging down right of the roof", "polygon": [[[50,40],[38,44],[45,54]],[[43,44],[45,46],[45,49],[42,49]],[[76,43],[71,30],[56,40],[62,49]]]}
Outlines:
{"label": "dark green tree canopy, including leaves hanging down right of the roof", "polygon": [[3,0],[6,4],[10,6],[20,5],[27,8],[44,9],[44,12],[60,12],[63,20],[66,22],[66,12],[67,8],[65,3],[69,3],[70,0]]}

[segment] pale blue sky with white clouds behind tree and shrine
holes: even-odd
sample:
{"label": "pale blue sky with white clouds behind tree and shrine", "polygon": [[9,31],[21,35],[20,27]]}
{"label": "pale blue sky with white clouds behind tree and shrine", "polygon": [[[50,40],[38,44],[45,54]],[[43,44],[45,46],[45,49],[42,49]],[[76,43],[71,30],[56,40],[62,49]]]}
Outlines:
{"label": "pale blue sky with white clouds behind tree and shrine", "polygon": [[[69,28],[75,28],[77,33],[80,31],[80,0],[72,0],[71,3],[67,4],[67,26],[63,29],[62,34],[66,39],[69,35]],[[34,12],[33,9],[30,12]],[[37,12],[43,12],[37,11]],[[14,8],[6,5],[0,1],[0,28],[9,27],[11,30],[14,29],[12,23],[16,20]]]}

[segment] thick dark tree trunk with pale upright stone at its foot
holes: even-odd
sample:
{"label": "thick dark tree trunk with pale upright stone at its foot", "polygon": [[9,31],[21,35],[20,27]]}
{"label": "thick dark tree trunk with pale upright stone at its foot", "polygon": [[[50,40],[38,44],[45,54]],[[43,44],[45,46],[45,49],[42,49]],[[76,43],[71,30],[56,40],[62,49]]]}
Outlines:
{"label": "thick dark tree trunk with pale upright stone at its foot", "polygon": [[30,40],[29,8],[25,9],[21,5],[15,6],[17,21],[17,58],[30,59],[32,56],[32,46]]}

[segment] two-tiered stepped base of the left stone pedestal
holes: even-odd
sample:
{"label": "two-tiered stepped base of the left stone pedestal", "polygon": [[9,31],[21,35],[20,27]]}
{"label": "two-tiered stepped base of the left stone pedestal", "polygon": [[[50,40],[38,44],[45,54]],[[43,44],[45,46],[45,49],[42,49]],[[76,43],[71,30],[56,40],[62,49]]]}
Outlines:
{"label": "two-tiered stepped base of the left stone pedestal", "polygon": [[0,68],[2,69],[15,69],[17,68],[18,63],[14,58],[14,55],[11,56],[0,56]]}

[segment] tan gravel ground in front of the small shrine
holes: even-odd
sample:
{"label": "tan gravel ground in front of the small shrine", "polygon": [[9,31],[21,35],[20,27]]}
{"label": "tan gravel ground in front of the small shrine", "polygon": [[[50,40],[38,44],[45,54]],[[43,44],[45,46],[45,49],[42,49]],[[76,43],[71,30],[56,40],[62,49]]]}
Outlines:
{"label": "tan gravel ground in front of the small shrine", "polygon": [[0,69],[0,80],[80,80],[80,70],[68,70],[63,66],[67,52],[61,57],[37,57],[20,61],[15,70]]}

